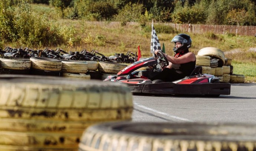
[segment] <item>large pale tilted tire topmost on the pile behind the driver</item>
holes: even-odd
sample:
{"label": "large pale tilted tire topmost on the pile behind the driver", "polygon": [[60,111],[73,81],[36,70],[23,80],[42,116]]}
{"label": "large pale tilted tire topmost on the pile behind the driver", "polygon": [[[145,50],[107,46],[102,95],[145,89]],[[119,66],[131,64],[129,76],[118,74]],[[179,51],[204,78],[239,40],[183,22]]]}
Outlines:
{"label": "large pale tilted tire topmost on the pile behind the driver", "polygon": [[210,56],[211,58],[218,59],[218,67],[222,67],[225,62],[225,54],[218,48],[206,47],[198,51],[197,55]]}

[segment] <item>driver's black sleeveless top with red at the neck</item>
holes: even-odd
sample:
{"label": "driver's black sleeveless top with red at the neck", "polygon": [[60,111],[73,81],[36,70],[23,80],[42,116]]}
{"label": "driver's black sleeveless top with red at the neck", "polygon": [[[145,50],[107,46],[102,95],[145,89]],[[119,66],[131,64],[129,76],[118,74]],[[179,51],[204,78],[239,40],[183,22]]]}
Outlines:
{"label": "driver's black sleeveless top with red at the neck", "polygon": [[[184,50],[182,52],[179,52],[179,53],[175,54],[174,57],[178,58],[180,56],[183,56],[183,55],[187,54],[188,52],[189,52],[188,49]],[[178,73],[184,73],[185,76],[188,76],[195,69],[195,67],[196,67],[196,60],[191,61],[191,62],[187,62],[185,64],[180,64],[180,68],[176,69],[176,71]]]}

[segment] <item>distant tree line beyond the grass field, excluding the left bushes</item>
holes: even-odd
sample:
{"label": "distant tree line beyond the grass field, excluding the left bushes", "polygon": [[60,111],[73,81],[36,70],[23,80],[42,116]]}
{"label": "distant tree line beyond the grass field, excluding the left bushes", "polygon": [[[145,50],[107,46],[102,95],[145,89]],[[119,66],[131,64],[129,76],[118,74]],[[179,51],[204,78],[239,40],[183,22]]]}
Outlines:
{"label": "distant tree line beyond the grass field, excluding the left bushes", "polygon": [[[12,0],[13,4],[22,0]],[[63,18],[256,25],[256,0],[27,0],[54,6]]]}

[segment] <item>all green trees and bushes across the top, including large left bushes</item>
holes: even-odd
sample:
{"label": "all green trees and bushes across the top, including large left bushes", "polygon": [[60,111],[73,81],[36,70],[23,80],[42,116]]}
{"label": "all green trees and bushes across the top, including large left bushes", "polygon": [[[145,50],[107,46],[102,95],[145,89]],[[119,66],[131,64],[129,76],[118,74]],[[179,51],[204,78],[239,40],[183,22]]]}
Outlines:
{"label": "all green trees and bushes across the top, including large left bushes", "polygon": [[[31,3],[53,6],[61,18],[118,21],[121,25],[138,22],[145,29],[152,19],[159,23],[256,25],[256,0],[0,0],[0,47],[13,42],[43,47],[81,41],[74,38],[74,28],[53,24],[46,15],[33,12]],[[160,32],[165,29],[161,27]]]}

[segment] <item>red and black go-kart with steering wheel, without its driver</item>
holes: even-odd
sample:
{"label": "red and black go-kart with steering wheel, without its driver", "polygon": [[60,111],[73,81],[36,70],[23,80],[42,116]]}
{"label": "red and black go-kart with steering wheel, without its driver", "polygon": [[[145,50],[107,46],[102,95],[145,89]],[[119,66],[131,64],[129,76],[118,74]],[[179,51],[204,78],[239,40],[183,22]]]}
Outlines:
{"label": "red and black go-kart with steering wheel, without its driver", "polygon": [[[145,58],[134,62],[117,73],[108,76],[104,81],[119,82],[127,85],[132,93],[148,93],[161,95],[207,95],[217,97],[230,95],[230,83],[221,83],[220,78],[214,75],[202,74],[202,67],[196,66],[193,72],[180,80],[173,82],[151,81],[149,78],[159,73],[157,66],[168,66],[168,60],[162,52],[157,58]],[[151,71],[138,71],[138,69],[151,66]],[[160,83],[159,83],[160,82]]]}

